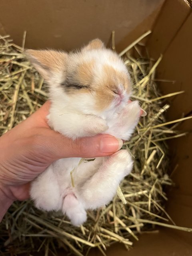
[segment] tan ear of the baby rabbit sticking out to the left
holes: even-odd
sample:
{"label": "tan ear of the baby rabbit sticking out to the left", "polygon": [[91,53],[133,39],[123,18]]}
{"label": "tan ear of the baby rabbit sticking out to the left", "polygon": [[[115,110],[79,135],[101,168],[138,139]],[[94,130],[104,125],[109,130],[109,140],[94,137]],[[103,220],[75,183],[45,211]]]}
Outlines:
{"label": "tan ear of the baby rabbit sticking out to the left", "polygon": [[66,52],[55,50],[25,50],[27,58],[45,80],[63,72],[66,67]]}

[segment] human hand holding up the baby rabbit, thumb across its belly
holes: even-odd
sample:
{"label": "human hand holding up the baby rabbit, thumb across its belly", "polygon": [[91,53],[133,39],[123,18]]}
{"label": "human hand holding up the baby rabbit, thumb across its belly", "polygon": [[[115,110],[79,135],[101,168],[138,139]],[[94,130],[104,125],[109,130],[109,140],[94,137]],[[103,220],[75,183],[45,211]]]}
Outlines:
{"label": "human hand holding up the baby rabbit, thumb across its belly", "polygon": [[122,140],[106,134],[73,141],[51,130],[46,120],[49,107],[50,102],[46,102],[0,137],[0,204],[3,207],[6,204],[8,208],[14,200],[27,199],[30,182],[55,160],[107,156],[122,147]]}

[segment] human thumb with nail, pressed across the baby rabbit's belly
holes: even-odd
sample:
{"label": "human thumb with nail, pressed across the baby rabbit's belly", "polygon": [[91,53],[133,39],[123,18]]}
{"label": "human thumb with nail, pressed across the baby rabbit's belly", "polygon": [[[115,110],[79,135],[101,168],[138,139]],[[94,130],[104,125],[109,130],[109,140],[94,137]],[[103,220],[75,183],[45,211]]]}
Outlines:
{"label": "human thumb with nail, pressed across the baby rabbit's belly", "polygon": [[52,136],[48,136],[46,142],[48,142],[50,158],[53,161],[68,157],[94,158],[108,156],[120,150],[123,145],[122,140],[108,134],[71,140],[60,133],[50,131]]}

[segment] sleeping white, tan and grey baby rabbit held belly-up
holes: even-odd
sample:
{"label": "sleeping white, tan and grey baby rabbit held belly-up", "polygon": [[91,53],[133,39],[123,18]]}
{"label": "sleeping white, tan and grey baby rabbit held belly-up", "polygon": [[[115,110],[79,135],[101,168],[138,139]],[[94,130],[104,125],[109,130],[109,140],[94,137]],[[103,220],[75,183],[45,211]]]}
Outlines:
{"label": "sleeping white, tan and grey baby rabbit held belly-up", "polygon": [[[70,53],[26,50],[26,54],[49,85],[51,128],[73,140],[101,133],[130,138],[141,108],[138,101],[129,100],[131,81],[126,66],[101,40]],[[127,150],[94,161],[80,160],[55,161],[30,189],[37,208],[62,210],[74,225],[86,221],[86,209],[108,204],[133,166]]]}

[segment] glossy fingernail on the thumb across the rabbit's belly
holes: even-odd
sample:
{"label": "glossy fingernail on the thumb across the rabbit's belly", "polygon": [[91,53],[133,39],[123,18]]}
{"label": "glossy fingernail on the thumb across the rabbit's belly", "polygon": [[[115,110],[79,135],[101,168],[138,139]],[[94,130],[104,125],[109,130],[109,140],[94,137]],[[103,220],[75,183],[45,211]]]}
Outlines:
{"label": "glossy fingernail on the thumb across the rabbit's belly", "polygon": [[120,150],[123,141],[116,137],[104,137],[100,141],[100,150],[102,153],[112,153]]}

